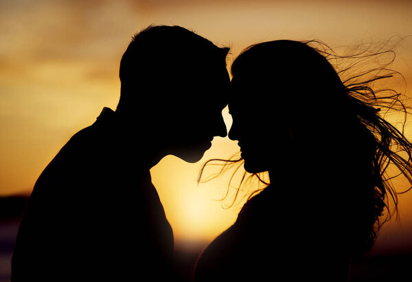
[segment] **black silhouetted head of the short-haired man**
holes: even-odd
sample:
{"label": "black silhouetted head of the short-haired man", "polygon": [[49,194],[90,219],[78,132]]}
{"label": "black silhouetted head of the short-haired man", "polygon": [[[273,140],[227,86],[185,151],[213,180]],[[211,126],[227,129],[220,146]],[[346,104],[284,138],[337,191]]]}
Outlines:
{"label": "black silhouetted head of the short-haired man", "polygon": [[163,153],[198,161],[213,137],[227,134],[228,51],[183,27],[147,27],[120,62],[116,112]]}

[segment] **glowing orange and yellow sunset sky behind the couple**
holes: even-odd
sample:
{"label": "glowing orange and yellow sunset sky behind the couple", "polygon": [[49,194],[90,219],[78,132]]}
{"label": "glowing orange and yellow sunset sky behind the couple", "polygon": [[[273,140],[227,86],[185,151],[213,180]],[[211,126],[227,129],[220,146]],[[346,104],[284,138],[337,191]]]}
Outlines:
{"label": "glowing orange and yellow sunset sky behind the couple", "polygon": [[[152,23],[181,25],[231,47],[264,40],[323,40],[328,45],[396,42],[393,69],[412,96],[412,1],[69,1],[0,0],[0,196],[30,193],[47,163],[102,107],[119,99],[119,60],[131,36]],[[231,117],[224,110],[227,126]],[[409,125],[411,127],[411,125]],[[408,129],[407,134],[412,137]],[[222,209],[228,177],[196,184],[201,164],[238,151],[215,138],[201,162],[167,156],[153,183],[176,240],[210,241],[242,202]],[[412,191],[400,197],[400,220],[380,236],[381,250],[412,250]]]}

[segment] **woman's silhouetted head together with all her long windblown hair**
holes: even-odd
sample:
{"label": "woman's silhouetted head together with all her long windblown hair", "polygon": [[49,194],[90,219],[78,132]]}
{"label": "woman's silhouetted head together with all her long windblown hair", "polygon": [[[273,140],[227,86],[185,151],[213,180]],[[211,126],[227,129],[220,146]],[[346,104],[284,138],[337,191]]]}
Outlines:
{"label": "woman's silhouetted head together with all her long windblown hair", "polygon": [[[371,248],[389,200],[396,208],[396,191],[385,178],[388,164],[412,184],[412,144],[378,113],[406,108],[396,91],[373,87],[395,73],[387,66],[342,81],[328,58],[333,52],[310,43],[260,43],[234,60],[229,138],[239,141],[247,172],[269,171],[271,183],[286,172],[313,192],[307,199],[312,205],[333,200],[328,212],[339,213],[335,220],[349,226],[354,258]],[[379,54],[333,55],[363,60]]]}

